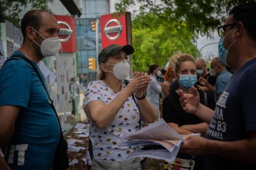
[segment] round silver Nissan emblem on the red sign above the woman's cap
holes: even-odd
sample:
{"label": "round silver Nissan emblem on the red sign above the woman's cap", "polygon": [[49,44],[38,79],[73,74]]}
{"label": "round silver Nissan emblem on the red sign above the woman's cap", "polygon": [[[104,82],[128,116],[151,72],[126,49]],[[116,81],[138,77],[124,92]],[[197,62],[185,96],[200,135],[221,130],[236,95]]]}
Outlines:
{"label": "round silver Nissan emblem on the red sign above the woman's cap", "polygon": [[[109,24],[111,24],[111,23],[116,23],[117,25],[109,26]],[[104,33],[106,34],[106,37],[108,37],[108,39],[116,40],[117,38],[119,38],[121,32],[122,32],[122,25],[118,20],[112,19],[106,23],[105,28],[104,28]],[[116,34],[116,36],[109,36],[109,33],[117,33],[117,34]]]}

